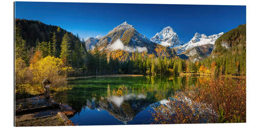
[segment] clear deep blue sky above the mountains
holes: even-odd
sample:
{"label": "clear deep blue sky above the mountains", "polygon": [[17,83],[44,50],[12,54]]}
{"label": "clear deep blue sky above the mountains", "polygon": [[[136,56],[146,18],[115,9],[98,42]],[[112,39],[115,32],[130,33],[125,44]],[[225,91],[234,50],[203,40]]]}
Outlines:
{"label": "clear deep blue sky above the mountains", "polygon": [[39,20],[89,38],[127,22],[147,38],[170,26],[181,41],[246,23],[246,6],[15,2],[15,18]]}

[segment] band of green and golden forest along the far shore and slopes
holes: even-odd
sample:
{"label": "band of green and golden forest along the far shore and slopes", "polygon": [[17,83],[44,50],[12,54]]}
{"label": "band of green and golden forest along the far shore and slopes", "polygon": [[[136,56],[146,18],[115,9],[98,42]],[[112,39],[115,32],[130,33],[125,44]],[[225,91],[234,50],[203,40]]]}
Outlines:
{"label": "band of green and golden forest along the far shore and slopes", "polygon": [[78,34],[36,20],[16,19],[15,82],[38,84],[49,76],[58,86],[66,77],[104,74],[246,74],[245,24],[218,38],[215,47],[209,57],[195,63],[163,55],[161,47],[156,48],[157,54],[87,50]]}

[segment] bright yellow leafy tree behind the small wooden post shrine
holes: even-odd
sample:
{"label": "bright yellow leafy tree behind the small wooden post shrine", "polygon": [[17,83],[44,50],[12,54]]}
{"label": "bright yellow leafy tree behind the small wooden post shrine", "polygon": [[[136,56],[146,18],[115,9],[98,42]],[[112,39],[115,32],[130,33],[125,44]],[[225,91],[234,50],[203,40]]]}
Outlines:
{"label": "bright yellow leafy tree behind the small wooden post shrine", "polygon": [[53,88],[66,84],[67,70],[71,69],[71,67],[65,67],[61,59],[52,56],[42,58],[30,65],[33,82],[39,84],[46,77],[49,77],[53,82]]}

